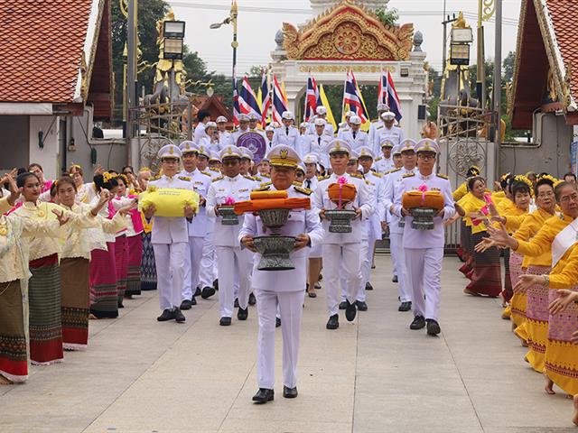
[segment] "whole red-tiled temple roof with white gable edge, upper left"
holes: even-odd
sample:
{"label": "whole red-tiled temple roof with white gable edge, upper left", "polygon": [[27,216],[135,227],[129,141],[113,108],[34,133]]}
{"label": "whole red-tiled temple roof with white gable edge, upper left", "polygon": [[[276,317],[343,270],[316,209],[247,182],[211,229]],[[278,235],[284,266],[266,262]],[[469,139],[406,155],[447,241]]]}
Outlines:
{"label": "whole red-tiled temple roof with white gable edge, upper left", "polygon": [[91,99],[110,115],[109,32],[109,0],[0,2],[0,102]]}

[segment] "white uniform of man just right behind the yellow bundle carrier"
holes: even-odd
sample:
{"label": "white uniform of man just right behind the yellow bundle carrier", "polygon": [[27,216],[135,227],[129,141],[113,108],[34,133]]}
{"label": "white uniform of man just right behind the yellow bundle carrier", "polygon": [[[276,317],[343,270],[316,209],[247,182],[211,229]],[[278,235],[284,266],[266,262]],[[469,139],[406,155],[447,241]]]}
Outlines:
{"label": "white uniform of man just right behind the yellow bundle carrier", "polygon": [[[210,187],[210,175],[199,169],[192,172],[181,171],[181,176],[191,180],[193,189],[202,198],[207,198]],[[204,240],[209,232],[209,218],[205,207],[199,207],[199,213],[188,223],[189,230],[189,256],[185,259],[185,278],[182,288],[182,300],[191,300],[194,297],[197,286],[200,285],[200,263]],[[212,282],[212,281],[211,281]],[[204,286],[201,286],[204,287]]]}

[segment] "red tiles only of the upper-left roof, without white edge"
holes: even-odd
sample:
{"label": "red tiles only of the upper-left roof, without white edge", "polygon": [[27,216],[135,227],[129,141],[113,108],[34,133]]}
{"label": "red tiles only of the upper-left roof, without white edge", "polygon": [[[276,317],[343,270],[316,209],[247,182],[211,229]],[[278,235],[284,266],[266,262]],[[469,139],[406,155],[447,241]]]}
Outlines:
{"label": "red tiles only of the upper-left roof, without white edge", "polygon": [[0,101],[72,102],[91,3],[0,2]]}

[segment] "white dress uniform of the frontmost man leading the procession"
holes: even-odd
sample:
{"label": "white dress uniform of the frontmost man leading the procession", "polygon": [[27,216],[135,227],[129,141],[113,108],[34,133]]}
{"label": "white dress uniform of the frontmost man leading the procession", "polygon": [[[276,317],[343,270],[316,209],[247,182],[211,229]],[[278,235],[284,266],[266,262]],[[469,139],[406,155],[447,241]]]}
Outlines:
{"label": "white dress uniform of the frontmost man leading the procession", "polygon": [[[274,148],[275,152],[275,148]],[[275,190],[274,187],[271,187]],[[306,198],[306,190],[294,186],[287,189],[289,198]],[[314,210],[292,210],[288,222],[281,228],[281,235],[307,234],[310,247],[322,242],[323,228],[319,214]],[[270,235],[259,217],[247,214],[239,232],[239,242],[246,235]],[[259,388],[273,389],[275,384],[275,316],[277,307],[281,315],[283,334],[283,382],[288,388],[297,384],[297,358],[303,316],[304,288],[307,273],[307,247],[290,254],[295,269],[290,271],[259,271],[261,255],[256,253],[252,287],[256,293],[259,315],[257,337],[257,382]]]}

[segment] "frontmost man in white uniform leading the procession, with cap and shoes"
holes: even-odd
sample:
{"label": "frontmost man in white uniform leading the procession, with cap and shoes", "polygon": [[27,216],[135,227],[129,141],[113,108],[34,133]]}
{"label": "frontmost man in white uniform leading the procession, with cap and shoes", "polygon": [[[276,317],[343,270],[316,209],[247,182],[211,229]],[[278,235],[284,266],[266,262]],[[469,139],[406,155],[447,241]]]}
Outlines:
{"label": "frontmost man in white uniform leading the procession, with cap and shoes", "polygon": [[[295,187],[295,168],[299,163],[299,155],[290,146],[281,144],[268,153],[271,161],[271,180],[273,185],[266,187],[271,190],[286,190],[289,198],[308,198],[311,191]],[[255,250],[256,236],[271,235],[260,217],[247,214],[238,239],[245,248]],[[320,244],[323,238],[323,228],[317,211],[294,209],[290,211],[287,223],[281,228],[281,235],[295,237],[294,251],[290,259],[294,270],[290,271],[259,271],[258,263],[261,254],[256,253],[253,269],[253,290],[257,296],[257,312],[259,315],[259,333],[257,337],[257,382],[258,392],[253,397],[256,403],[266,403],[274,400],[275,385],[275,315],[277,309],[283,323],[283,396],[287,399],[297,397],[297,359],[299,356],[299,340],[301,334],[301,319],[303,316],[303,288],[307,270],[307,249]]]}

